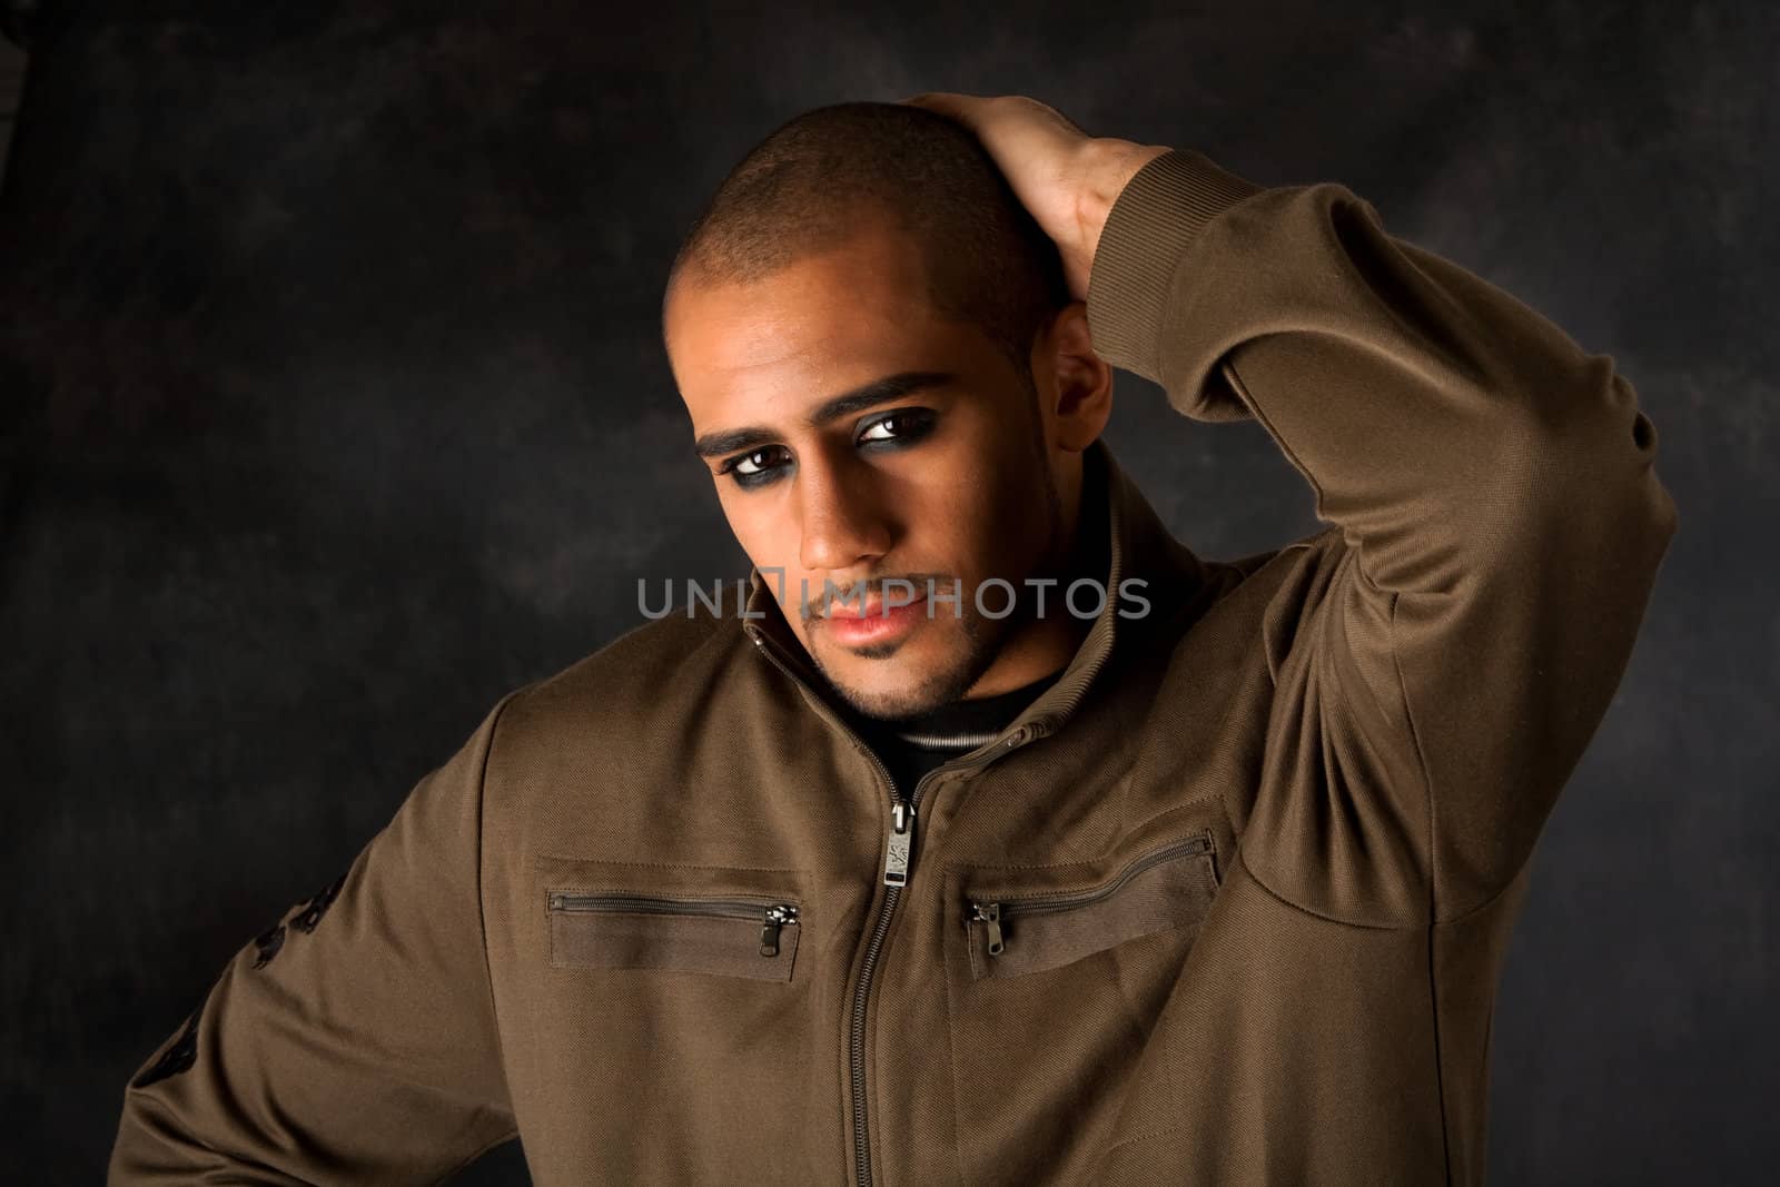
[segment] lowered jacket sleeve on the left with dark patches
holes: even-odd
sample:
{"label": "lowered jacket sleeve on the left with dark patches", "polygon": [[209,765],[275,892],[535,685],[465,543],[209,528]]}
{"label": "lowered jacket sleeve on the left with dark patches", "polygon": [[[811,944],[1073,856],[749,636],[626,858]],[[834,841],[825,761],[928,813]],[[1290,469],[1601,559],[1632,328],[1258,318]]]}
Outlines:
{"label": "lowered jacket sleeve on the left with dark patches", "polygon": [[498,717],[132,1077],[110,1183],[438,1182],[514,1135],[479,890]]}

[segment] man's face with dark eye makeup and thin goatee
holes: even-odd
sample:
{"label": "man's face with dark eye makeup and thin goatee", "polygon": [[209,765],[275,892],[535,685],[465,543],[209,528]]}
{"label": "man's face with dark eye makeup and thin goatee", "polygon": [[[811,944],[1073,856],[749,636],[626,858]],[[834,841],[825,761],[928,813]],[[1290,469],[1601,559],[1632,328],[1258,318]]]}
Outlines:
{"label": "man's face with dark eye makeup and thin goatee", "polygon": [[990,585],[983,614],[977,587],[1024,593],[1063,514],[1038,400],[933,313],[915,246],[865,221],[760,283],[684,285],[664,331],[730,529],[817,667],[879,717],[968,692],[1031,602],[997,618]]}

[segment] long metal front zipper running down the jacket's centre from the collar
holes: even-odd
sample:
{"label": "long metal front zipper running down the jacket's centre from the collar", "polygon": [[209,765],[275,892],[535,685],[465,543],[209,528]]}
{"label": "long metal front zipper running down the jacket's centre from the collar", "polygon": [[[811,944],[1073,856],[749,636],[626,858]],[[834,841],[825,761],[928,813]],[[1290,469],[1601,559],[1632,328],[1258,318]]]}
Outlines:
{"label": "long metal front zipper running down the jacket's centre from the collar", "polygon": [[[790,666],[773,653],[773,644],[769,644],[764,635],[755,637],[755,642],[781,673],[785,673],[794,683],[803,685],[797,673],[794,673]],[[838,726],[840,731],[853,740],[853,746],[860,753],[870,758],[872,767],[878,769],[879,779],[886,788],[890,788],[890,831],[885,836],[883,865],[885,897],[878,902],[878,915],[872,920],[870,940],[865,941],[865,957],[860,961],[860,979],[853,986],[853,1005],[847,1029],[847,1071],[853,1080],[853,1171],[858,1187],[870,1187],[872,1143],[865,1125],[865,1007],[870,1002],[872,977],[878,973],[878,952],[883,949],[885,936],[890,933],[890,918],[895,915],[895,906],[902,899],[902,886],[908,884],[910,868],[915,865],[915,808],[920,803],[920,792],[927,787],[927,779],[938,774],[947,771],[974,771],[1009,749],[1045,737],[1045,728],[1040,723],[1027,723],[1002,739],[1000,746],[991,751],[984,751],[975,758],[954,758],[952,762],[942,763],[915,779],[915,788],[910,792],[908,799],[902,799],[897,795],[895,779],[890,778],[890,769],[885,767],[881,758],[878,758],[878,753],[860,740],[860,735],[856,735],[838,715],[829,715],[829,721],[833,721],[835,726]]]}

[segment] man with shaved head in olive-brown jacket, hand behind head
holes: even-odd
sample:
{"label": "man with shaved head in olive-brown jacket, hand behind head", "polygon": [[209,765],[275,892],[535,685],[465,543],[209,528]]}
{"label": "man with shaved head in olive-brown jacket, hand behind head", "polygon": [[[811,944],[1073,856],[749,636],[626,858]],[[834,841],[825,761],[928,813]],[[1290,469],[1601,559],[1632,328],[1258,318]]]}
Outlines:
{"label": "man with shaved head in olive-brown jacket, hand behind head", "polygon": [[[664,335],[746,605],[507,696],[144,1064],[114,1180],[1481,1183],[1677,523],[1611,359],[1340,185],[958,94],[769,137]],[[1330,527],[1194,557],[1111,365]]]}

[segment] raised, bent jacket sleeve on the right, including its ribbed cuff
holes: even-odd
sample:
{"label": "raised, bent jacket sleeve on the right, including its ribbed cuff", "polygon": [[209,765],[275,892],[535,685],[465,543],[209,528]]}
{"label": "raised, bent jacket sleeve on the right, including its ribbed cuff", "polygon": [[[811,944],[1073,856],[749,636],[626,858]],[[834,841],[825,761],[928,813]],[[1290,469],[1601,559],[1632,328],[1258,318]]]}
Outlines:
{"label": "raised, bent jacket sleeve on the right, including its ribbed cuff", "polygon": [[1675,532],[1632,384],[1349,189],[1196,151],[1120,192],[1088,313],[1177,411],[1258,420],[1331,525],[1269,605],[1244,863],[1347,922],[1483,906],[1606,714]]}

